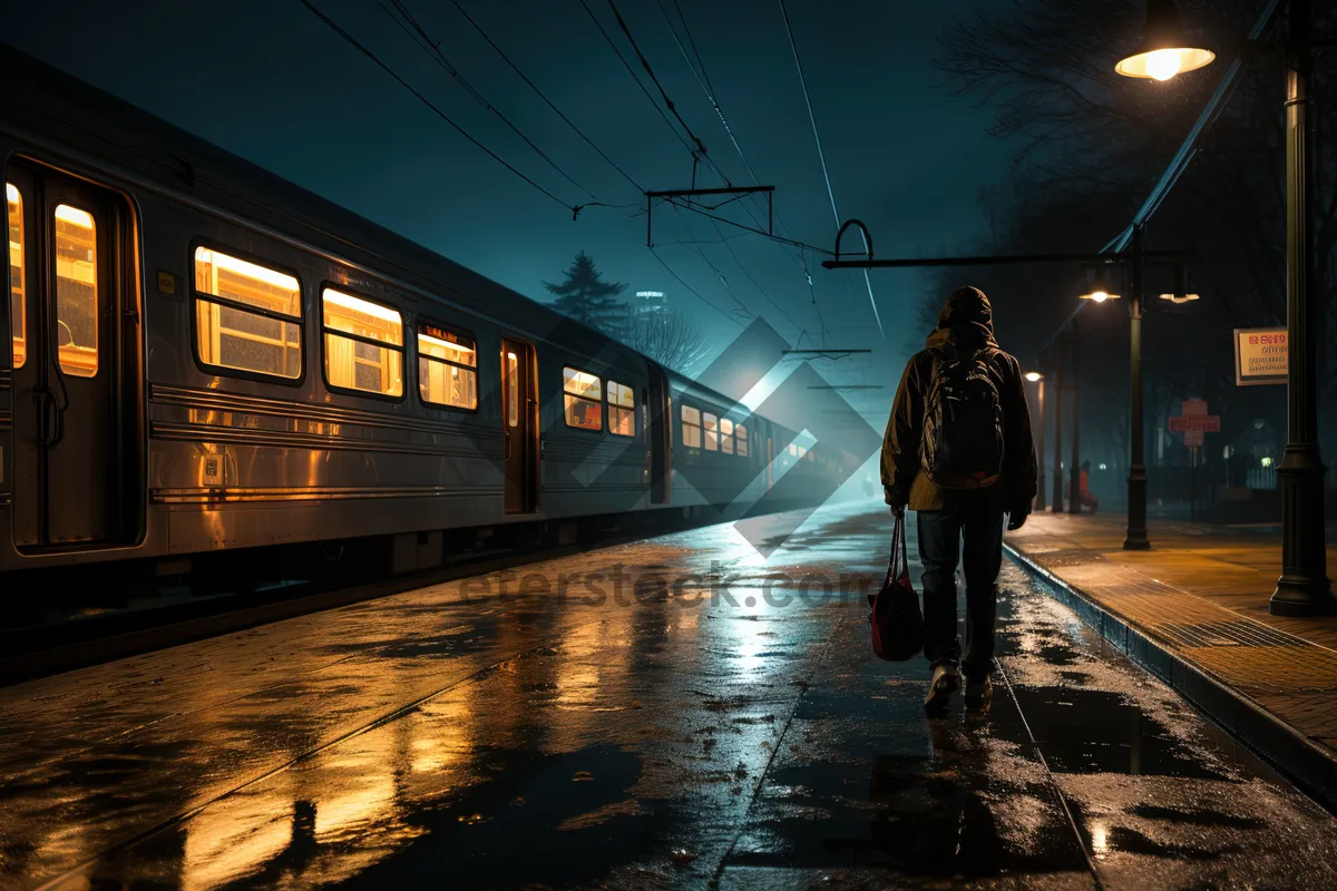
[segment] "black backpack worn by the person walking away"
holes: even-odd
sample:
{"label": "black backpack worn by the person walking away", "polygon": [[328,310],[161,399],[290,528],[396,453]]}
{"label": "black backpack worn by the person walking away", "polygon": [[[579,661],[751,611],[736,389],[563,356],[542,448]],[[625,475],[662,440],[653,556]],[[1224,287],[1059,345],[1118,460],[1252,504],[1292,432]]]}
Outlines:
{"label": "black backpack worn by the person walking away", "polygon": [[983,489],[1003,476],[1003,405],[989,374],[992,349],[935,351],[924,401],[920,461],[940,489]]}

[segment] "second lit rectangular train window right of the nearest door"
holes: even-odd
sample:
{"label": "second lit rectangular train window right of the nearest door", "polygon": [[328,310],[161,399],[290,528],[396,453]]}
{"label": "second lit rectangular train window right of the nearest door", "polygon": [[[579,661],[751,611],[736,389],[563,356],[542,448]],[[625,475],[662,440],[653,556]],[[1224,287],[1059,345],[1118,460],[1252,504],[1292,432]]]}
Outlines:
{"label": "second lit rectangular train window right of the nearest door", "polygon": [[404,317],[398,310],[326,287],[325,379],[332,387],[404,395]]}

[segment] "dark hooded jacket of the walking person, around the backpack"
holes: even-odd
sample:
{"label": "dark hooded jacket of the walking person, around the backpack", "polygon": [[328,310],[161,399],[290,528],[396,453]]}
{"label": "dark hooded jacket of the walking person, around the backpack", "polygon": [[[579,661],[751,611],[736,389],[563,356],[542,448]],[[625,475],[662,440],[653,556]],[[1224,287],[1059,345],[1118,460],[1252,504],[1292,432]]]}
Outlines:
{"label": "dark hooded jacket of the walking person, around the backpack", "polygon": [[[944,490],[924,474],[920,453],[924,398],[933,379],[935,353],[971,354],[985,347],[992,350],[988,367],[1003,407],[1003,476],[983,493]],[[886,502],[893,508],[945,510],[956,506],[964,496],[981,498],[989,508],[1011,514],[1031,512],[1036,493],[1036,458],[1021,366],[999,349],[993,339],[993,309],[984,291],[976,287],[952,291],[924,349],[905,366],[882,437],[882,488]]]}

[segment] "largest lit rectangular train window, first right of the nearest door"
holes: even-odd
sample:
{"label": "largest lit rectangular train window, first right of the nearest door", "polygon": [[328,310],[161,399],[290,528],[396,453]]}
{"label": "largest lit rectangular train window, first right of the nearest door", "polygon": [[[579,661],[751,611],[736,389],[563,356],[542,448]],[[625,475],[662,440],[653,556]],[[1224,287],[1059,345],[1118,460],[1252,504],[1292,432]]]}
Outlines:
{"label": "largest lit rectangular train window, first right of the nearest door", "polygon": [[286,273],[195,248],[199,361],[275,378],[302,375],[302,289]]}

